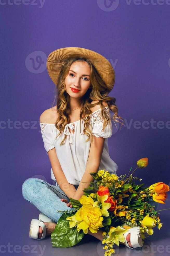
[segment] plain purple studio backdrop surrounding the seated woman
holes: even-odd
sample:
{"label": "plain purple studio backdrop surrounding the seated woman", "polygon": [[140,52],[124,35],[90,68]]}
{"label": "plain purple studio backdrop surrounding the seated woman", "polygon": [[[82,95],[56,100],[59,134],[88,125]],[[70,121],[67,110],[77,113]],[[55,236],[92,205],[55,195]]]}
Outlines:
{"label": "plain purple studio backdrop surrounding the seated woman", "polygon": [[[104,6],[104,0],[46,0],[42,8],[38,0],[34,5],[32,0],[28,5],[24,5],[24,1],[20,5],[12,0],[1,2],[1,188],[4,195],[1,199],[1,245],[47,245],[43,255],[74,255],[78,248],[82,254],[87,245],[58,249],[52,248],[50,237],[41,242],[29,238],[30,221],[38,218],[39,211],[22,197],[21,186],[29,177],[54,184],[39,117],[52,106],[54,98],[54,84],[45,68],[44,56],[58,48],[87,48],[113,64],[116,81],[110,96],[116,98],[118,114],[126,120],[126,127],[114,130],[108,139],[110,156],[118,165],[117,174],[128,173],[132,165],[135,168],[137,160],[148,157],[148,167],[137,170],[136,176],[147,185],[159,181],[169,184],[170,5],[166,2],[160,5],[156,0],[155,4],[146,1],[148,5],[127,2],[107,0],[112,7],[119,3],[115,10]],[[35,61],[37,55],[44,62],[40,68]],[[34,59],[35,68],[29,57]],[[135,121],[142,124],[152,119],[155,129],[151,123],[148,129],[134,126]],[[27,125],[23,127],[25,121]],[[130,121],[132,124],[128,127]],[[162,129],[159,121],[164,122]],[[168,207],[169,199],[159,206],[160,209]],[[161,212],[163,227],[155,230],[159,245],[169,244],[168,240],[165,242],[168,215],[169,210]],[[89,248],[93,248],[90,252],[103,255],[102,250],[97,249],[98,242],[94,238],[92,246],[89,240]],[[5,255],[11,255],[5,248]],[[124,246],[120,249],[125,255]],[[88,252],[86,247],[86,254]],[[13,252],[17,255],[32,253]],[[133,250],[130,253],[135,254]]]}

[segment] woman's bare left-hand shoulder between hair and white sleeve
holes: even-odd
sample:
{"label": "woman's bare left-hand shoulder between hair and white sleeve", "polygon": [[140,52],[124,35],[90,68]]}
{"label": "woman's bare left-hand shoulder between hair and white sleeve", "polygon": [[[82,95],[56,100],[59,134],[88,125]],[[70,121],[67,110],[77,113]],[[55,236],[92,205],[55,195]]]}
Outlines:
{"label": "woman's bare left-hand shoulder between hair and white sleeve", "polygon": [[48,108],[40,115],[40,123],[55,124],[57,119],[57,106]]}

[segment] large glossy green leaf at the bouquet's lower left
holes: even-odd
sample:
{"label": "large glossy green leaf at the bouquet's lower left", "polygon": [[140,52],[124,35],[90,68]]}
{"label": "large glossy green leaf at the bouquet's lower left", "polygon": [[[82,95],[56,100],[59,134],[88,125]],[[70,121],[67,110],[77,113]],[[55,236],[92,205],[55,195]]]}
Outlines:
{"label": "large glossy green leaf at the bouquet's lower left", "polygon": [[83,236],[83,230],[77,231],[76,228],[70,228],[67,217],[73,216],[71,213],[63,213],[51,233],[51,243],[53,247],[67,248],[79,243]]}

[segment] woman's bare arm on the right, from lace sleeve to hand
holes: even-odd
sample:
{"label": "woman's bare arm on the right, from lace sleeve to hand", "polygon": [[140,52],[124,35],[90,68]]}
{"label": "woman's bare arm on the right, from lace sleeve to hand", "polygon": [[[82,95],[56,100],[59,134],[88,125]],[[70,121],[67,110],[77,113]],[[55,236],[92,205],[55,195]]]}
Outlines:
{"label": "woman's bare arm on the right, from lace sleeve to hand", "polygon": [[[86,165],[86,170],[83,174],[79,187],[77,188],[73,199],[79,200],[80,197],[84,194],[82,190],[90,185],[90,181],[94,182],[93,177],[89,172],[98,172],[100,161],[103,153],[105,138],[93,136],[93,143],[91,142],[89,157]],[[86,183],[83,183],[86,182]]]}

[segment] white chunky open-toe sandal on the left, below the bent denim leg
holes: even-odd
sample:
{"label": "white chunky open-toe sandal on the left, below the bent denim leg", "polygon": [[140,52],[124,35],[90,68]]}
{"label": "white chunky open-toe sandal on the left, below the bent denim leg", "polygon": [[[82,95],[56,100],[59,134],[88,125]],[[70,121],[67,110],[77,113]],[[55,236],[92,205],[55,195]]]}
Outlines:
{"label": "white chunky open-toe sandal on the left, below the bent denim leg", "polygon": [[[33,239],[41,240],[46,235],[46,227],[45,227],[44,222],[54,222],[54,220],[48,218],[43,213],[40,213],[38,218],[39,219],[32,219],[31,220],[29,237],[33,238]],[[41,227],[42,230],[43,230],[41,238],[38,238],[39,227]]]}

